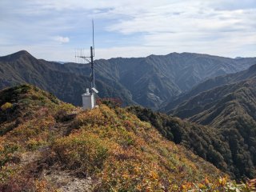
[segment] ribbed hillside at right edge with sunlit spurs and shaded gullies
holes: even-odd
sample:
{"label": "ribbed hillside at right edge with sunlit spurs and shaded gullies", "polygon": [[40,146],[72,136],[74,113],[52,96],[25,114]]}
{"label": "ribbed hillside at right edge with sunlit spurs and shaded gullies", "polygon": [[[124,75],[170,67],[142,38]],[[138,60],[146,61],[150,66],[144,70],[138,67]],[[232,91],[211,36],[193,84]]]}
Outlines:
{"label": "ribbed hillside at right edge with sunlit spurs and shaded gullies", "polygon": [[[256,78],[219,86],[183,102],[172,113],[191,122],[213,126],[230,143],[232,158],[238,167],[256,165]],[[237,175],[242,173],[236,173]]]}

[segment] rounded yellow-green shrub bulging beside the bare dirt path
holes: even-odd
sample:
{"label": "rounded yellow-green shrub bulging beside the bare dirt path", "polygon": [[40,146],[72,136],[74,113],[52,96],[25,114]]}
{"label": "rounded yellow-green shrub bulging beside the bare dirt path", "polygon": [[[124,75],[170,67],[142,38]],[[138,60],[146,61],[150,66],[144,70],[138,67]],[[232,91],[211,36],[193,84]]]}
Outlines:
{"label": "rounded yellow-green shrub bulging beside the bare dirt path", "polygon": [[108,148],[97,135],[76,133],[59,138],[53,144],[58,158],[70,169],[78,169],[84,174],[101,170],[108,156]]}

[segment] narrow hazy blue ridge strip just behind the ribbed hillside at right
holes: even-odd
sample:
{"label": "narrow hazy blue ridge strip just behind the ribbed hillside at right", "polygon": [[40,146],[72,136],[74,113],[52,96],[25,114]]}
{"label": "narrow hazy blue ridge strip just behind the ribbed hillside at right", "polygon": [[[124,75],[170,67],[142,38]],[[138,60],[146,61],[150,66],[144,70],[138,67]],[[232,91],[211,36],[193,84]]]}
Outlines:
{"label": "narrow hazy blue ridge strip just behind the ribbed hillside at right", "polygon": [[192,90],[178,95],[177,98],[173,98],[173,101],[171,101],[165,107],[163,107],[162,110],[164,111],[172,110],[175,108],[175,106],[178,106],[178,104],[186,101],[189,98],[194,97],[195,95],[203,91],[211,90],[211,89],[214,89],[215,87],[231,84],[234,82],[240,82],[242,80],[246,80],[249,78],[256,78],[256,65],[250,66],[249,69],[242,70],[235,74],[226,74],[226,75],[218,76],[216,78],[210,78],[205,82],[199,83],[197,86],[194,86]]}

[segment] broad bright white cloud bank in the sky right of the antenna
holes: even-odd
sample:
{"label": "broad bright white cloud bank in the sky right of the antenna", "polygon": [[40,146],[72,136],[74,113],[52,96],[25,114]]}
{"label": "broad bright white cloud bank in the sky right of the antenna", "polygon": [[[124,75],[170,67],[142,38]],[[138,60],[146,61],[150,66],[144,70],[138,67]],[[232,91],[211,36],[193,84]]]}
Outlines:
{"label": "broad bright white cloud bank in the sky right of the antenna", "polygon": [[[254,7],[239,9],[237,2],[237,9],[231,4],[228,9],[228,4],[222,6],[219,3],[222,9],[216,10],[214,6],[209,6],[209,2],[182,1],[154,6],[134,13],[131,18],[120,19],[106,30],[124,35],[142,34],[142,49],[139,52],[149,50],[148,54],[159,54],[161,51],[163,54],[166,50],[168,54],[169,50],[169,53],[187,51],[229,57],[255,56],[252,50],[256,44]],[[111,10],[111,13],[114,12]],[[118,10],[117,13],[120,14]],[[123,11],[123,14],[129,12]]]}

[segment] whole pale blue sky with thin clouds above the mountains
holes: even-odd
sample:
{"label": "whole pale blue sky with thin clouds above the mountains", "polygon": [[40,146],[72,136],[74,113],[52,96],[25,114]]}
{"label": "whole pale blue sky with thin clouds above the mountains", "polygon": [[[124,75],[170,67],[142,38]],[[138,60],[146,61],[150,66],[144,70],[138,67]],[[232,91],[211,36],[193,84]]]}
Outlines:
{"label": "whole pale blue sky with thin clouds above the mountains", "polygon": [[191,52],[256,57],[256,0],[1,0],[0,56],[95,58]]}

